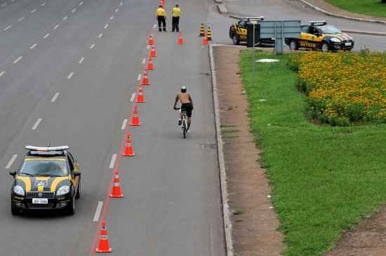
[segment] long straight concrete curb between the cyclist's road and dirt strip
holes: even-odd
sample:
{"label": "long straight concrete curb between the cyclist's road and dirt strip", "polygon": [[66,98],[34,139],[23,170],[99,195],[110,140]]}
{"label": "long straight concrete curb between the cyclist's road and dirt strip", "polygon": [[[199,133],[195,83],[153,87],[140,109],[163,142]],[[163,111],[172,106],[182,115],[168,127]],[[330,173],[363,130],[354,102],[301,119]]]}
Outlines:
{"label": "long straight concrete curb between the cyclist's road and dirt strip", "polygon": [[221,185],[221,201],[222,215],[224,219],[225,245],[227,247],[227,256],[233,256],[233,241],[232,241],[232,222],[230,220],[230,211],[228,204],[227,190],[227,173],[225,172],[224,151],[222,149],[223,142],[220,129],[220,107],[218,105],[218,88],[215,74],[215,61],[213,58],[213,46],[209,45],[209,58],[211,59],[212,73],[212,88],[213,88],[213,105],[215,109],[215,133],[217,137],[217,154],[218,166],[220,168],[220,185]]}

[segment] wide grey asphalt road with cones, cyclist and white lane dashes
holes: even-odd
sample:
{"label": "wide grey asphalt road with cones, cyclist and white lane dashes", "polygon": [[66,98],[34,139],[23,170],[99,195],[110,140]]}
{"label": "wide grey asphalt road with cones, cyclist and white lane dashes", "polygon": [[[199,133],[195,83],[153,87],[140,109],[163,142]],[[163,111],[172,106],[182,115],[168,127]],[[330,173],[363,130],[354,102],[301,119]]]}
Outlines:
{"label": "wide grey asphalt road with cones, cyclist and white lane dashes", "polygon": [[[184,46],[178,34],[152,29],[158,1],[0,1],[1,255],[93,255],[102,219],[111,255],[225,255],[208,52],[197,37],[212,6],[179,4],[189,20],[181,20]],[[130,128],[135,156],[114,162],[149,32],[158,57],[142,126]],[[195,105],[187,140],[171,109],[181,83]],[[79,161],[77,212],[14,217],[8,170],[18,168],[26,144],[48,141],[69,145]],[[121,172],[124,198],[106,198],[110,167]]]}

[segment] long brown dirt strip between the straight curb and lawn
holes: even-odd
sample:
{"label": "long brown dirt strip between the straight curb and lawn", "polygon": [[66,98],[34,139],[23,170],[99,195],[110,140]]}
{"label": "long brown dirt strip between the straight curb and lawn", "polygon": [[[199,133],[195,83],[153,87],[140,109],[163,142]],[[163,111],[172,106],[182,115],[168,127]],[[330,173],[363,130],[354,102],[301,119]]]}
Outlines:
{"label": "long brown dirt strip between the straight curb and lawn", "polygon": [[213,48],[225,169],[236,256],[279,256],[284,250],[269,181],[249,132],[248,102],[239,76],[240,48]]}

